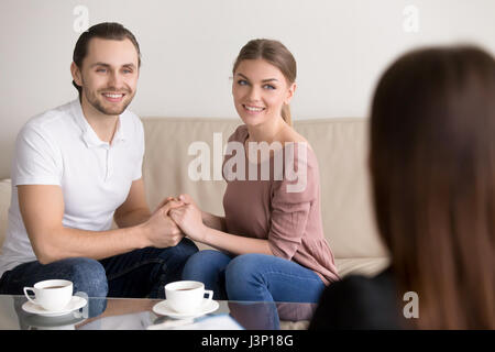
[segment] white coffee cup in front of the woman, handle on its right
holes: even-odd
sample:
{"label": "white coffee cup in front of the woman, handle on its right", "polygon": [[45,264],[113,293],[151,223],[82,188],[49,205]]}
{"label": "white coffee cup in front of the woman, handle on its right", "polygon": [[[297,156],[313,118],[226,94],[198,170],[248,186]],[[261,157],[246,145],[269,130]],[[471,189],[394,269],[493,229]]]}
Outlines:
{"label": "white coffee cup in front of the woman, handle on its right", "polygon": [[205,289],[204,283],[183,280],[165,285],[165,296],[168,307],[177,312],[190,314],[197,311],[205,299],[211,301],[213,292]]}

